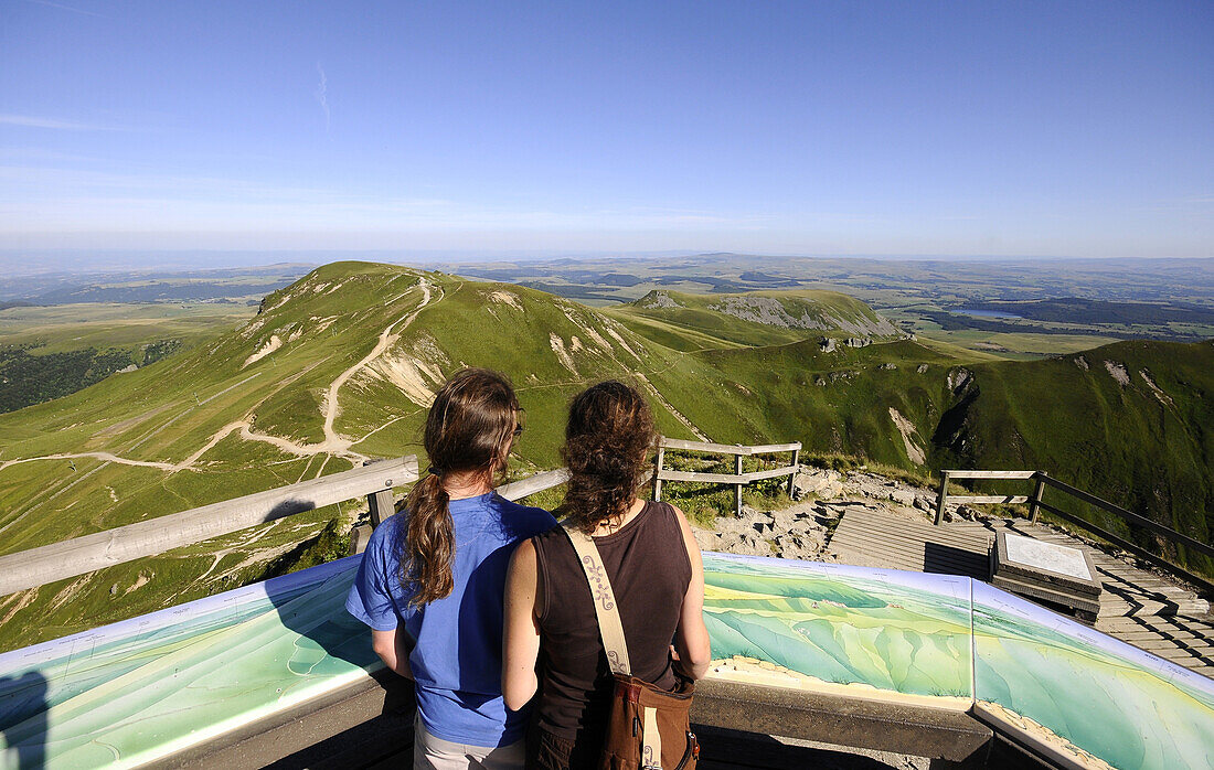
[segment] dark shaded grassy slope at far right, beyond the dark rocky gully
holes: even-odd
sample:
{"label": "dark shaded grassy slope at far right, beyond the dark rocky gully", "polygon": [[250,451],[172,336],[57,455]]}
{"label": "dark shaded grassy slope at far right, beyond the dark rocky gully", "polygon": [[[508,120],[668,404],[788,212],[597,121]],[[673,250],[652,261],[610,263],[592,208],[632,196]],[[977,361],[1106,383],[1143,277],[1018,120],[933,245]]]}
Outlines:
{"label": "dark shaded grassy slope at far right, beyond the dark rocky gully", "polygon": [[[1118,342],[1084,353],[1088,369],[1078,358],[974,366],[978,395],[966,413],[963,458],[1049,470],[1212,542],[1214,343]],[[1105,361],[1123,365],[1129,384]],[[1057,504],[1062,496],[1049,498]],[[1111,514],[1066,507],[1125,531]],[[1214,561],[1190,558],[1214,572]]]}

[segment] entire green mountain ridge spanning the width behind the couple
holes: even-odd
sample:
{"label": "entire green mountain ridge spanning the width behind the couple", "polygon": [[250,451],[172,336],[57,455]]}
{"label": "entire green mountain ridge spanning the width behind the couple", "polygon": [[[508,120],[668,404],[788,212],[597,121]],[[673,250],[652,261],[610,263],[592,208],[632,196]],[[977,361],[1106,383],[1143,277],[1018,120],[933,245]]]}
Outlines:
{"label": "entire green mountain ridge spanning the width behind the couple", "polygon": [[[421,454],[429,399],[467,365],[518,390],[520,475],[558,464],[568,400],[619,377],[647,390],[665,435],[800,440],[919,472],[1040,468],[1209,541],[1210,343],[981,361],[907,340],[835,292],[660,295],[677,307],[594,309],[397,266],[317,268],[236,331],[0,415],[0,553]],[[0,648],[256,580],[352,514],[300,514],[0,598]]]}

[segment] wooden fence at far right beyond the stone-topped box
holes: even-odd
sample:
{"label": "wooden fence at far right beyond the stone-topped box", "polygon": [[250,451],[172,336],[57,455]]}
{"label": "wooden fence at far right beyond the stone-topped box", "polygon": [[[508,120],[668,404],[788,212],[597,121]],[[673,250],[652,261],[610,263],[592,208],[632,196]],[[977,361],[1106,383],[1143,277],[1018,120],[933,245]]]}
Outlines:
{"label": "wooden fence at far right beyond the stone-topped box", "polygon": [[[949,495],[948,485],[951,481],[959,479],[998,479],[998,480],[1032,480],[1036,481],[1032,495]],[[1107,500],[1101,500],[1090,492],[1085,492],[1082,489],[1071,486],[1065,481],[1059,481],[1051,478],[1044,470],[941,470],[940,472],[940,492],[936,497],[936,524],[940,524],[944,519],[944,503],[970,503],[970,504],[989,504],[989,503],[1028,503],[1028,518],[1032,521],[1037,521],[1042,511],[1053,513],[1054,515],[1074,524],[1082,529],[1088,530],[1093,535],[1096,535],[1101,540],[1113,543],[1118,548],[1128,551],[1134,555],[1150,561],[1151,564],[1164,569],[1169,572],[1179,575],[1185,580],[1202,586],[1206,591],[1214,592],[1214,582],[1209,578],[1202,577],[1201,575],[1195,575],[1192,571],[1164,559],[1163,557],[1151,553],[1146,548],[1131,543],[1124,537],[1110,532],[1108,530],[1097,526],[1087,519],[1078,517],[1067,511],[1062,511],[1055,506],[1051,506],[1042,500],[1045,494],[1045,487],[1051,486],[1067,496],[1085,502],[1091,506],[1096,506],[1102,511],[1106,511],[1131,527],[1142,527],[1159,537],[1170,541],[1173,543],[1184,546],[1185,548],[1196,551],[1197,553],[1206,554],[1208,557],[1214,557],[1214,547],[1201,542],[1199,540],[1193,540],[1187,535],[1178,532],[1176,530],[1152,521],[1151,519],[1134,513],[1133,511],[1127,511],[1121,506],[1113,504]]]}

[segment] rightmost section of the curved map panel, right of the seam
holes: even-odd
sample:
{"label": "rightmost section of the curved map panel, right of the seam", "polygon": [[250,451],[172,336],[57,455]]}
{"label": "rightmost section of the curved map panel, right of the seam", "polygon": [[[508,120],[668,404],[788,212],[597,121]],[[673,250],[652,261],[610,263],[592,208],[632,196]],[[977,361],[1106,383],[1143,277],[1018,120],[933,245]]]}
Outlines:
{"label": "rightmost section of the curved map panel, right of the seam", "polygon": [[1096,768],[1214,768],[1214,680],[974,581],[976,714]]}

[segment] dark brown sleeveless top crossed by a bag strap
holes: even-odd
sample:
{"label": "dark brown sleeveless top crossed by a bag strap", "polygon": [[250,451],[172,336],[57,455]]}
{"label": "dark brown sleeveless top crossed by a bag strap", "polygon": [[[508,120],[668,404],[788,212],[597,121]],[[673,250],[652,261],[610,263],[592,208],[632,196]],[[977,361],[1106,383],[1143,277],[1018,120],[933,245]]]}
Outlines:
{"label": "dark brown sleeveless top crossed by a bag strap", "polygon": [[[560,526],[532,543],[544,591],[533,728],[578,743],[601,742],[612,675],[585,572]],[[619,531],[595,537],[595,546],[615,592],[632,675],[673,690],[670,644],[691,583],[691,560],[674,508],[646,502]]]}

